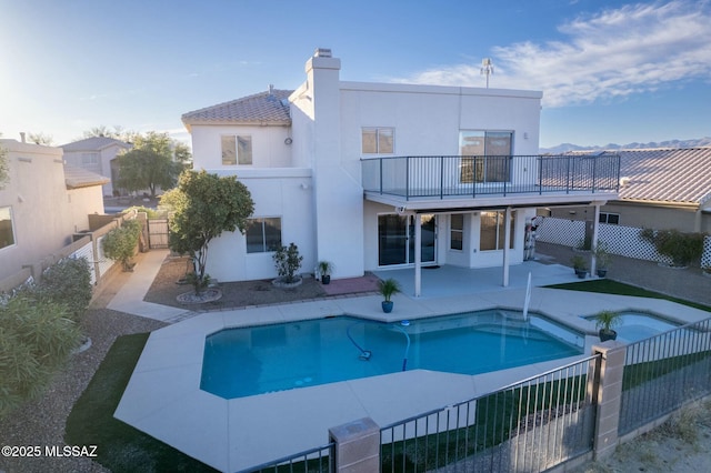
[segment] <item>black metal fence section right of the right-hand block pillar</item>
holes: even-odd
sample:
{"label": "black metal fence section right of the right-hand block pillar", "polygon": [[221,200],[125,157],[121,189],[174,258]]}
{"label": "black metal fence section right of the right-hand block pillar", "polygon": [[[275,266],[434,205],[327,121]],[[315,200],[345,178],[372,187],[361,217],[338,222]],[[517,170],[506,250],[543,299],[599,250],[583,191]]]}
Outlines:
{"label": "black metal fence section right of the right-hand block pillar", "polygon": [[711,319],[625,350],[620,435],[711,394]]}

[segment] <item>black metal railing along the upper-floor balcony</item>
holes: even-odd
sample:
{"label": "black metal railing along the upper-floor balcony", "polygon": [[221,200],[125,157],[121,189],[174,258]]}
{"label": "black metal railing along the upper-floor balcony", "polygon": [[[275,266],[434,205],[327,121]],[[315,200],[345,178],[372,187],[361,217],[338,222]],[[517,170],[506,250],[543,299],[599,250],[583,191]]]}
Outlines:
{"label": "black metal railing along the upper-floor balcony", "polygon": [[365,192],[417,198],[617,192],[620,155],[389,157],[363,159]]}

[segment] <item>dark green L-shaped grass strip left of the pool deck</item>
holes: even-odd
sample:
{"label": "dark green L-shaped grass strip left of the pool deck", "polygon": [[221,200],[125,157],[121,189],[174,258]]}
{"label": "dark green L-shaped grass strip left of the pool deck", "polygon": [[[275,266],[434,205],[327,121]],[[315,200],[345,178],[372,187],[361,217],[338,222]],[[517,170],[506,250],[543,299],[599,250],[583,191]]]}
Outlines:
{"label": "dark green L-shaped grass strip left of the pool deck", "polygon": [[112,472],[214,472],[170,445],[113,417],[148,333],[119,336],[67,419],[68,445],[98,445]]}

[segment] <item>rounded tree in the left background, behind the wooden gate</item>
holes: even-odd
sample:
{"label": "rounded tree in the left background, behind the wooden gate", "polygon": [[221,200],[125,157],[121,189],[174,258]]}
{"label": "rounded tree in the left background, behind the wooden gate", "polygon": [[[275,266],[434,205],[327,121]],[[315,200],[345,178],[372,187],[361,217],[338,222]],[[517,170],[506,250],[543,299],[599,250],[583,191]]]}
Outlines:
{"label": "rounded tree in the left background, behind the wooden gate", "polygon": [[168,133],[151,131],[136,135],[133,149],[118,158],[117,184],[129,192],[149,189],[151,197],[156,197],[159,187],[167,190],[176,185],[189,160],[188,147],[176,142]]}

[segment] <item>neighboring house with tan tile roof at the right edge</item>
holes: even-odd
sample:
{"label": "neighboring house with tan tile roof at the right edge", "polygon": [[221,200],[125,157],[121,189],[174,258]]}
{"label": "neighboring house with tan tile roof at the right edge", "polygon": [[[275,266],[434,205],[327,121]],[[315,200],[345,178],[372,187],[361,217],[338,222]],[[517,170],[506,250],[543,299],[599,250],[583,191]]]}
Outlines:
{"label": "neighboring house with tan tile roof at the right edge", "polygon": [[[621,157],[620,197],[600,209],[600,223],[711,233],[711,147],[614,153]],[[585,154],[593,153],[571,153]],[[587,208],[551,209],[550,214],[570,220],[594,218]]]}

